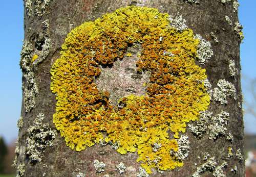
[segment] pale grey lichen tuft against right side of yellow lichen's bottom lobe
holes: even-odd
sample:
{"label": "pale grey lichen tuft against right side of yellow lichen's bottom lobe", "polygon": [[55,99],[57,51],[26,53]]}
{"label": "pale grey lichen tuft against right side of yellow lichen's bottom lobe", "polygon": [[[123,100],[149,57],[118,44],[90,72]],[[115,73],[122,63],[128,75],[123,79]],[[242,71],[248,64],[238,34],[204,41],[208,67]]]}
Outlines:
{"label": "pale grey lichen tuft against right side of yellow lichen's bottom lobe", "polygon": [[188,136],[181,135],[178,141],[178,151],[170,151],[170,154],[175,155],[177,159],[184,160],[188,157],[189,154],[189,140]]}

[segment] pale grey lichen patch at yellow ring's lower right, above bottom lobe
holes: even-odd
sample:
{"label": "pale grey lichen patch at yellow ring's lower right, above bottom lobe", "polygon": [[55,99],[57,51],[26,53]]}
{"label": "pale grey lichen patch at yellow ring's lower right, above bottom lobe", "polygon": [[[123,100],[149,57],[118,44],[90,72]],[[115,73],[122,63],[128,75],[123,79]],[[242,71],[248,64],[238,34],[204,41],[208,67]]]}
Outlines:
{"label": "pale grey lichen patch at yellow ring's lower right, above bottom lobe", "polygon": [[188,124],[188,128],[197,138],[201,138],[207,131],[207,124],[212,117],[212,112],[202,111],[200,112],[199,120],[196,124]]}

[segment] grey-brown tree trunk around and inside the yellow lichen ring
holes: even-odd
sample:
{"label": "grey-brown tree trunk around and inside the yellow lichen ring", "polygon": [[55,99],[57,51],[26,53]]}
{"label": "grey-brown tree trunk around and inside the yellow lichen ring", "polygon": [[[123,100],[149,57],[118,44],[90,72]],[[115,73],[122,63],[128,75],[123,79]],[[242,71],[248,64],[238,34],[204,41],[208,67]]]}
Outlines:
{"label": "grey-brown tree trunk around and inside the yellow lichen ring", "polygon": [[[236,0],[25,0],[24,4],[25,39],[20,61],[23,71],[23,104],[22,117],[18,121],[19,140],[15,150],[17,158],[14,162],[17,176],[244,176],[239,56],[243,36],[242,27],[237,23]],[[195,121],[189,119],[189,122],[182,122],[186,124],[185,132],[167,130],[168,139],[173,140],[174,146],[178,146],[178,150],[173,150],[173,154],[172,150],[167,152],[167,156],[174,160],[169,163],[183,163],[181,167],[176,164],[173,169],[165,170],[156,162],[157,159],[154,161],[150,157],[147,157],[148,161],[137,162],[136,159],[141,157],[137,153],[141,144],[134,145],[135,152],[131,149],[121,151],[122,145],[105,139],[90,147],[84,144],[79,147],[75,144],[72,149],[72,144],[67,142],[68,146],[66,145],[66,133],[62,132],[64,137],[61,137],[62,129],[57,130],[57,123],[53,123],[57,103],[55,98],[59,93],[53,93],[50,89],[53,77],[51,68],[61,56],[61,45],[65,42],[67,34],[83,22],[95,21],[106,13],[113,13],[127,6],[156,8],[160,14],[167,13],[173,16],[169,19],[170,26],[176,29],[177,34],[191,29],[195,37],[190,40],[200,42],[195,56],[196,65],[206,70],[208,80],[198,81],[198,85],[204,84],[202,92],[211,96],[211,99],[209,106],[206,106],[207,110],[196,108],[198,113],[195,113]],[[186,20],[187,27],[182,26],[185,25],[182,18]],[[167,36],[158,36],[155,43],[161,43],[165,38],[167,39]],[[112,105],[121,110],[126,106],[120,102],[124,96],[132,94],[139,97],[149,94],[150,91],[145,85],[150,88],[158,78],[150,76],[154,68],[145,69],[150,72],[143,72],[144,74],[136,72],[136,62],[138,67],[139,56],[144,54],[143,47],[145,46],[142,42],[129,45],[124,49],[123,60],[117,60],[114,64],[104,65],[98,62],[101,73],[95,74],[97,79],[94,83],[98,90],[110,94],[101,104]],[[175,57],[179,54],[164,51],[163,56],[165,55]],[[190,92],[193,90],[187,94]],[[96,104],[98,103],[95,102],[93,106]],[[73,119],[70,118],[70,122],[78,119],[79,115],[75,115]],[[147,120],[144,121],[146,124]],[[104,138],[108,136],[106,131],[102,132]],[[141,132],[143,130],[139,133]],[[163,146],[163,143],[153,142],[152,154],[157,154]],[[177,155],[179,153],[180,155]],[[158,168],[151,168],[149,171],[143,165],[143,168],[140,168],[141,163],[147,166],[155,163]]]}

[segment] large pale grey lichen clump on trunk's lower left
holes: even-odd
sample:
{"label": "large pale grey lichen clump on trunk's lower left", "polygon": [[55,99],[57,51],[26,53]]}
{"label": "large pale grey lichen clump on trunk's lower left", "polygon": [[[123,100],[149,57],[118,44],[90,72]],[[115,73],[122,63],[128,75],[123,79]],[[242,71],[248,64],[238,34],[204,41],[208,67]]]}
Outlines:
{"label": "large pale grey lichen clump on trunk's lower left", "polygon": [[56,131],[50,129],[48,123],[43,123],[45,115],[40,113],[28,129],[26,154],[31,163],[40,162],[46,147],[53,145]]}

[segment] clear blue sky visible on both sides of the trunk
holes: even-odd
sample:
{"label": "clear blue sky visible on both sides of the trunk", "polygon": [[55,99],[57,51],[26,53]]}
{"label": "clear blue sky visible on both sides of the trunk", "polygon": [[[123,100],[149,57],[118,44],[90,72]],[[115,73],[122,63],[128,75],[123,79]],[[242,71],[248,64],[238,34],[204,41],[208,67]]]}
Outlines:
{"label": "clear blue sky visible on both sides of the trunk", "polygon": [[[240,1],[239,19],[244,26],[244,43],[241,44],[243,77],[256,78],[256,1]],[[22,100],[22,73],[19,69],[19,53],[24,39],[23,1],[3,1],[0,7],[1,21],[1,66],[0,70],[0,136],[7,142],[18,134],[16,122],[20,117]],[[246,91],[248,82],[242,81],[244,99],[250,99]],[[255,105],[256,107],[256,105]],[[256,118],[245,115],[245,132],[256,134]]]}

